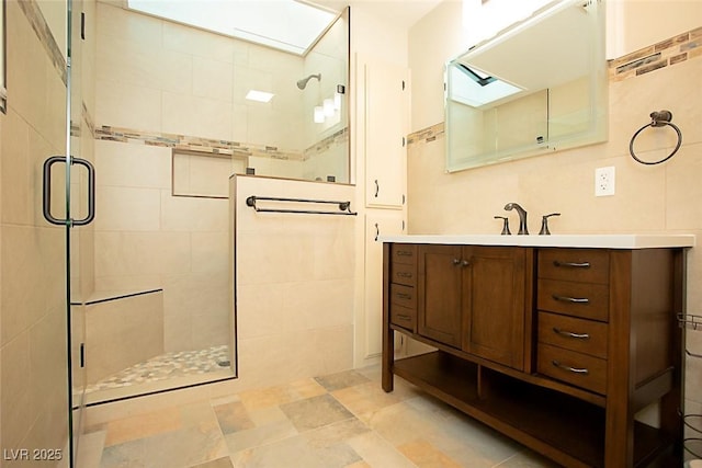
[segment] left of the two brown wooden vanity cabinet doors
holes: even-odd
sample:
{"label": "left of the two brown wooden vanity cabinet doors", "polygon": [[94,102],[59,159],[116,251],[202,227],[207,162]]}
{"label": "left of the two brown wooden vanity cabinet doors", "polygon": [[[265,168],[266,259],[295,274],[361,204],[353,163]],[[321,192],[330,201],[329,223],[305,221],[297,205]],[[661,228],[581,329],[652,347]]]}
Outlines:
{"label": "left of the two brown wooden vanity cabinet doors", "polygon": [[461,247],[419,248],[417,331],[461,347]]}

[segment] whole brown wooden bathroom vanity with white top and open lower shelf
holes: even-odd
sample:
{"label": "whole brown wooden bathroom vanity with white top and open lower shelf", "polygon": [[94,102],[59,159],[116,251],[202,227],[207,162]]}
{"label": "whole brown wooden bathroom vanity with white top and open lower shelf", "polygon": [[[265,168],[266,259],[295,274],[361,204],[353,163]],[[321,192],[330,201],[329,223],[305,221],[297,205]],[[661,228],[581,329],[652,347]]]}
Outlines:
{"label": "whole brown wooden bathroom vanity with white top and open lower shelf", "polygon": [[[381,240],[385,391],[397,375],[566,467],[680,466],[693,236]],[[396,359],[395,332],[435,351]]]}

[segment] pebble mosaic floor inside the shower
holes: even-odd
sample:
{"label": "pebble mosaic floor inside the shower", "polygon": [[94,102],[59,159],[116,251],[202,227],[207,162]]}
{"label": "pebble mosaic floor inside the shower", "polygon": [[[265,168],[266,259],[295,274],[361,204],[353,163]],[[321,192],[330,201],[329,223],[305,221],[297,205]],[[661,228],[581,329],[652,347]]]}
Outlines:
{"label": "pebble mosaic floor inside the shower", "polygon": [[229,347],[226,344],[204,350],[166,353],[87,386],[86,393],[172,377],[207,374],[222,370],[229,365]]}

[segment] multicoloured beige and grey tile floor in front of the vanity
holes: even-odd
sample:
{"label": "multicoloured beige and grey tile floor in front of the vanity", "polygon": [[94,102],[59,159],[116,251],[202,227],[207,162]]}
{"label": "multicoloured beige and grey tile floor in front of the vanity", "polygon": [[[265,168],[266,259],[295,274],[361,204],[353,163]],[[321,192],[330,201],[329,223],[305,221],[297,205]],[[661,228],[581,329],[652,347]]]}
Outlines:
{"label": "multicoloured beige and grey tile floor in front of the vanity", "polygon": [[88,432],[83,440],[100,443],[101,468],[555,467],[400,378],[385,393],[378,367],[133,415]]}

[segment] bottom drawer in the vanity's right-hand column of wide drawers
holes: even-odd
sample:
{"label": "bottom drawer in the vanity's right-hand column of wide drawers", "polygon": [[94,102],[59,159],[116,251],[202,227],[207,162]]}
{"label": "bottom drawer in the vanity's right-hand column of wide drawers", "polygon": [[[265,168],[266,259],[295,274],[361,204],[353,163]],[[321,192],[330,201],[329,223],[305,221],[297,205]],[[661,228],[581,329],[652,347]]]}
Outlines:
{"label": "bottom drawer in the vanity's right-hand column of wide drawers", "polygon": [[539,374],[600,395],[607,392],[607,361],[563,347],[539,343]]}

